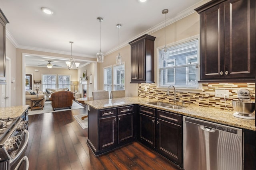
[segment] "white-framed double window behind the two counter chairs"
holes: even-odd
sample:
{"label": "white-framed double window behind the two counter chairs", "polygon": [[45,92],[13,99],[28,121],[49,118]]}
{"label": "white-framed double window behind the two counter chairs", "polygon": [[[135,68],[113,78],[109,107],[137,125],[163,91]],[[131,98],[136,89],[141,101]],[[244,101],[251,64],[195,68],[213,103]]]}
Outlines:
{"label": "white-framed double window behind the two counter chairs", "polygon": [[124,64],[104,68],[104,90],[124,90]]}

